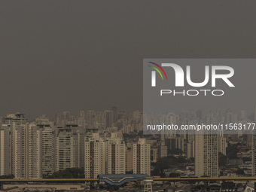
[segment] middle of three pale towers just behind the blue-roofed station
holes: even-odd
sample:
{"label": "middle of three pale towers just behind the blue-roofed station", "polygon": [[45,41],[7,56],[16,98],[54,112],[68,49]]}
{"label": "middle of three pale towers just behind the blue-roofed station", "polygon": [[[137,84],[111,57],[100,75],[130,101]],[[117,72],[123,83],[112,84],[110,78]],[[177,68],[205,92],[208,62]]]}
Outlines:
{"label": "middle of three pale towers just behind the blue-roofed station", "polygon": [[126,146],[116,133],[106,142],[107,174],[125,174],[126,172]]}

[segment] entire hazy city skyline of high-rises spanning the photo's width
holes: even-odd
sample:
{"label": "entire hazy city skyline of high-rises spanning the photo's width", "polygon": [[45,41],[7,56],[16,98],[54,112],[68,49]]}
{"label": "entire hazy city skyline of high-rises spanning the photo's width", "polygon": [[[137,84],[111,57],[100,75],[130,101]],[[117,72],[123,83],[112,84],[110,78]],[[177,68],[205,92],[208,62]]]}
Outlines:
{"label": "entire hazy city skyline of high-rises spanning the photo's width", "polygon": [[[168,113],[166,123],[248,123],[245,111],[200,110]],[[145,174],[161,177],[255,175],[253,134],[143,135],[142,111],[68,111],[55,120],[25,114],[1,118],[0,175],[47,178],[69,168],[84,169],[85,178],[101,174]]]}

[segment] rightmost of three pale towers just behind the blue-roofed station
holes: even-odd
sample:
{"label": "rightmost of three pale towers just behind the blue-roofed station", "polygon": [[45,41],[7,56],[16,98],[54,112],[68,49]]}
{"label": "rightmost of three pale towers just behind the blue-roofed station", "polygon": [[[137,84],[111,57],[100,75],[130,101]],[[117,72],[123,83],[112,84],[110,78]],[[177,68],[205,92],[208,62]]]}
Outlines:
{"label": "rightmost of three pale towers just behind the blue-roofed station", "polygon": [[151,147],[146,139],[133,144],[133,174],[151,175]]}

